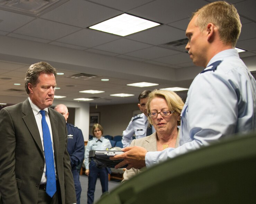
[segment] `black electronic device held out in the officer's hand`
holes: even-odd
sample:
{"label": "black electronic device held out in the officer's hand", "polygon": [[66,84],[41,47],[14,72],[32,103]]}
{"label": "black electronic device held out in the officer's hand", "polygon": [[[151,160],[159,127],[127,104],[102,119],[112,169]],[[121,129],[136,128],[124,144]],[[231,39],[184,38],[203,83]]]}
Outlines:
{"label": "black electronic device held out in the officer's hand", "polygon": [[[109,157],[123,154],[123,151],[110,151],[110,150],[90,150],[89,158],[92,159],[98,168],[115,168],[115,165],[122,162],[123,159],[110,160]],[[127,165],[120,168],[126,168]]]}

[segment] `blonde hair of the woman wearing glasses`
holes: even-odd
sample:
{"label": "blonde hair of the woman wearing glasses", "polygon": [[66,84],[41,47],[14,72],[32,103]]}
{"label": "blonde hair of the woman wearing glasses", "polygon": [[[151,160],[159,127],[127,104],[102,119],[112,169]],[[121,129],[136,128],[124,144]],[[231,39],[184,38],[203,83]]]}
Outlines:
{"label": "blonde hair of the woman wearing glasses", "polygon": [[[173,114],[178,114],[180,115],[182,108],[184,106],[183,100],[173,91],[168,91],[168,90],[159,90],[155,89],[153,90],[148,97],[148,102],[147,102],[147,110],[148,112],[150,111],[150,102],[152,99],[160,97],[164,98],[169,110],[175,110]],[[149,123],[152,125],[152,120],[151,117],[148,117]],[[178,125],[180,125],[180,121],[177,122]]]}

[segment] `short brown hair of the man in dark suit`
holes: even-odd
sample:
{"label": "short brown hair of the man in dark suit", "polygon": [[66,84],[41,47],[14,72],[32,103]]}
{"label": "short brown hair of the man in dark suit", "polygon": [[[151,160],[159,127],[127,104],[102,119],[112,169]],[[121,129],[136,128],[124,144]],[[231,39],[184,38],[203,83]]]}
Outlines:
{"label": "short brown hair of the man in dark suit", "polygon": [[36,86],[39,82],[38,77],[41,73],[54,74],[55,77],[57,75],[55,68],[47,62],[37,62],[36,64],[31,65],[28,68],[25,76],[25,89],[27,94],[29,94],[28,83]]}

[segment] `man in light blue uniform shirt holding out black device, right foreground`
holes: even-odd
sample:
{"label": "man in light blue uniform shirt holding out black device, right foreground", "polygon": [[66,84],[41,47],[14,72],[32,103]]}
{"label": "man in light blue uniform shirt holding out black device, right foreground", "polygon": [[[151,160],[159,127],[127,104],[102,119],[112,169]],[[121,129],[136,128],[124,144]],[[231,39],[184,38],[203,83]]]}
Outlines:
{"label": "man in light blue uniform shirt holding out black device, right foreground", "polygon": [[116,168],[125,164],[130,164],[127,169],[150,167],[229,135],[256,131],[256,81],[235,50],[240,32],[239,14],[227,2],[206,4],[193,14],[186,30],[186,49],[193,63],[205,69],[188,90],[180,146],[161,152],[127,147],[126,153],[112,159],[129,157],[129,161]]}

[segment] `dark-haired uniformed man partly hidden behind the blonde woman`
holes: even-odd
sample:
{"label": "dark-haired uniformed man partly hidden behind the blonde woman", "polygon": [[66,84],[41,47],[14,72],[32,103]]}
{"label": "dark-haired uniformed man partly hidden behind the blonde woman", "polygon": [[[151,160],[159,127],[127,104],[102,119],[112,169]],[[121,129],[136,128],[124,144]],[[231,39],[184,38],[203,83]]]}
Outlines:
{"label": "dark-haired uniformed man partly hidden behind the blonde woman", "polygon": [[132,142],[132,137],[135,135],[136,139],[151,135],[156,130],[151,125],[148,126],[148,117],[146,103],[148,101],[148,95],[151,91],[142,91],[139,95],[139,104],[138,107],[142,114],[132,117],[129,125],[126,130],[123,131],[122,143],[123,147],[130,146]]}

